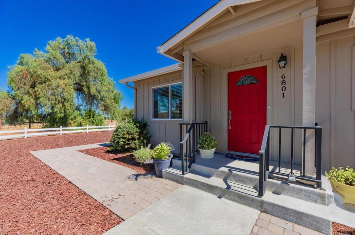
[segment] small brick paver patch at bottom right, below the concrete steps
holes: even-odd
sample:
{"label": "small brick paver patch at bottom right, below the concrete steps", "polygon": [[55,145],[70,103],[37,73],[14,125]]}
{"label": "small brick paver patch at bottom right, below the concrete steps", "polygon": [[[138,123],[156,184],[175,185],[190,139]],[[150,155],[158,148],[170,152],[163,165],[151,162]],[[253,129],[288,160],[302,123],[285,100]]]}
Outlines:
{"label": "small brick paver patch at bottom right, below the concrete steps", "polygon": [[312,229],[261,212],[250,235],[323,235]]}

